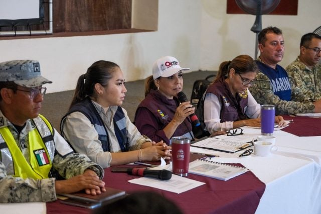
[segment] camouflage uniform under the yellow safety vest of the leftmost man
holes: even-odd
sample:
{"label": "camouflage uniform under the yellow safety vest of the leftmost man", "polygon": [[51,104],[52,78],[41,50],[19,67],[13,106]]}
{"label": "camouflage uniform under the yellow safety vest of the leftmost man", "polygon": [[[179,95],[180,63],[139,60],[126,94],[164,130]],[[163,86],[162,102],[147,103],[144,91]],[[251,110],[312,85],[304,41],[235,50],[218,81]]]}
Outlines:
{"label": "camouflage uniform under the yellow safety vest of the leftmost man", "polygon": [[[0,111],[0,118],[3,118],[1,127],[8,126],[24,157],[29,162],[29,136],[28,133],[36,126],[32,120],[26,122],[25,127],[19,134],[13,124],[6,119]],[[0,128],[1,128],[0,127]],[[60,176],[68,179],[76,175],[83,174],[86,169],[92,169],[100,178],[103,177],[103,169],[91,162],[89,158],[82,154],[73,153],[67,142],[54,130],[53,133],[55,141],[55,156],[52,167],[59,173]],[[23,142],[23,144],[21,143]],[[69,148],[72,153],[65,157],[58,154],[59,149]],[[58,150],[58,151],[57,151]],[[17,160],[16,160],[17,161]],[[51,173],[50,173],[51,175]],[[28,202],[28,201],[53,201],[56,200],[55,191],[56,178],[44,179],[22,179],[21,177],[13,177],[7,174],[6,166],[0,162],[0,202]]]}

